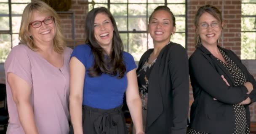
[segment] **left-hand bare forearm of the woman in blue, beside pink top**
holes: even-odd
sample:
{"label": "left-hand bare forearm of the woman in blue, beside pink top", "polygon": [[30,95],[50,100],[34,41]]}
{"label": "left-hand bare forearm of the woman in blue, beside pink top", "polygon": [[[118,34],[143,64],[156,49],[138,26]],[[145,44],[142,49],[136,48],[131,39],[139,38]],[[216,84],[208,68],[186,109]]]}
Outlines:
{"label": "left-hand bare forearm of the woman in blue, beside pink top", "polygon": [[83,134],[82,127],[82,99],[70,97],[69,99],[69,111],[74,129],[74,134]]}

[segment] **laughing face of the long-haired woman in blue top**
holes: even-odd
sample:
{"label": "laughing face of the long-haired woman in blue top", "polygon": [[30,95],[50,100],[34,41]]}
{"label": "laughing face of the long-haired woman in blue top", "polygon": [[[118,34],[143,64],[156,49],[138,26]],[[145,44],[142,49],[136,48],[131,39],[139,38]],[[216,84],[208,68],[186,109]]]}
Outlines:
{"label": "laughing face of the long-haired woman in blue top", "polygon": [[98,13],[94,20],[94,36],[100,46],[112,46],[114,27],[105,13]]}

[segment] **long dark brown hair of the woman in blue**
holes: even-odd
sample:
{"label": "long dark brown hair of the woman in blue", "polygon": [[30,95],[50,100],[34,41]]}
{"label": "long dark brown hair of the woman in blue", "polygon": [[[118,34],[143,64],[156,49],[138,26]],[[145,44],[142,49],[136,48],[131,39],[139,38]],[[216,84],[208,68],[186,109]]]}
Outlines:
{"label": "long dark brown hair of the woman in blue", "polygon": [[[106,14],[111,20],[114,28],[112,50],[107,57],[105,56],[107,53],[99,45],[94,36],[94,21],[96,15],[99,13]],[[89,68],[89,76],[97,77],[102,73],[106,73],[112,76],[116,76],[118,74],[117,78],[119,79],[124,77],[126,68],[123,61],[123,42],[119,36],[115,19],[107,8],[94,8],[87,14],[85,19],[85,36],[85,42],[91,46],[91,51],[94,57],[94,65],[93,67]]]}

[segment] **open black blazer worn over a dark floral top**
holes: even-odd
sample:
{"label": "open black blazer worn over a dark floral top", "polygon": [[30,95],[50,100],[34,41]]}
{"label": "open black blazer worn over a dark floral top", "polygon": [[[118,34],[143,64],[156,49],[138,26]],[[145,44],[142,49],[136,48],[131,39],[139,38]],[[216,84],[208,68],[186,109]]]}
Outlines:
{"label": "open black blazer worn over a dark floral top", "polygon": [[[140,70],[153,49],[140,61]],[[186,134],[189,109],[187,52],[171,42],[160,52],[150,73],[146,134]]]}

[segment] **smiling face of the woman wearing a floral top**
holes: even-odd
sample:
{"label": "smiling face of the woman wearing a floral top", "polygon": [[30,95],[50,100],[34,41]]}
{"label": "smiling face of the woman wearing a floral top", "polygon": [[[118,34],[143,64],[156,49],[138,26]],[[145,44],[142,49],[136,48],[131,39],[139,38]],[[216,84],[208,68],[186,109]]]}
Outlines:
{"label": "smiling face of the woman wearing a floral top", "polygon": [[156,11],[149,20],[149,33],[153,42],[167,44],[175,31],[172,16],[165,10]]}

